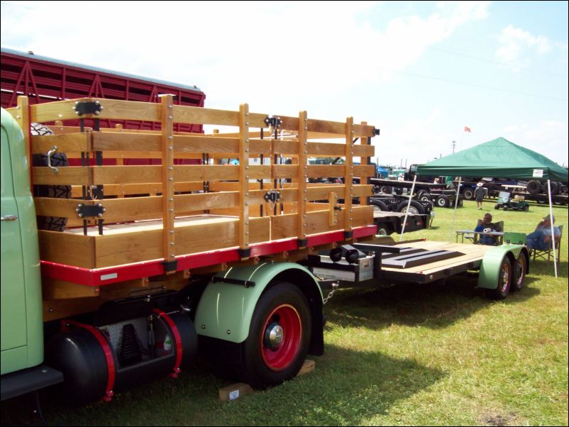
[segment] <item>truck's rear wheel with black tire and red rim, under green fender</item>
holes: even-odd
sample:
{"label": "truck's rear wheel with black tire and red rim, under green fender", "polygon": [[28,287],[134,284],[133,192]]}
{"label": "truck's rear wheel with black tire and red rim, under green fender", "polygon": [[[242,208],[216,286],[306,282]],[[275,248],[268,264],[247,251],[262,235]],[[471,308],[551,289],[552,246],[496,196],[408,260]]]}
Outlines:
{"label": "truck's rear wheel with black tire and red rim, under green fender", "polygon": [[[270,331],[279,327],[280,343],[272,343],[272,349]],[[265,389],[293,378],[306,359],[311,330],[309,305],[300,289],[289,282],[276,282],[266,289],[255,306],[249,336],[241,348],[241,381]]]}

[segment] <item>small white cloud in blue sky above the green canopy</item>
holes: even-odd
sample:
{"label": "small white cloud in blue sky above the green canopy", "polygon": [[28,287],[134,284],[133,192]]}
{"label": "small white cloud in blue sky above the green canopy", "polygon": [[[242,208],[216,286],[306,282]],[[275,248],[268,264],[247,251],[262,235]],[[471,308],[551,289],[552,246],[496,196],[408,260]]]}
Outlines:
{"label": "small white cloud in blue sky above the green canopy", "polygon": [[551,50],[551,42],[545,36],[535,36],[512,25],[502,29],[499,43],[496,57],[500,62],[515,67],[529,65],[530,55],[534,52],[543,55]]}

